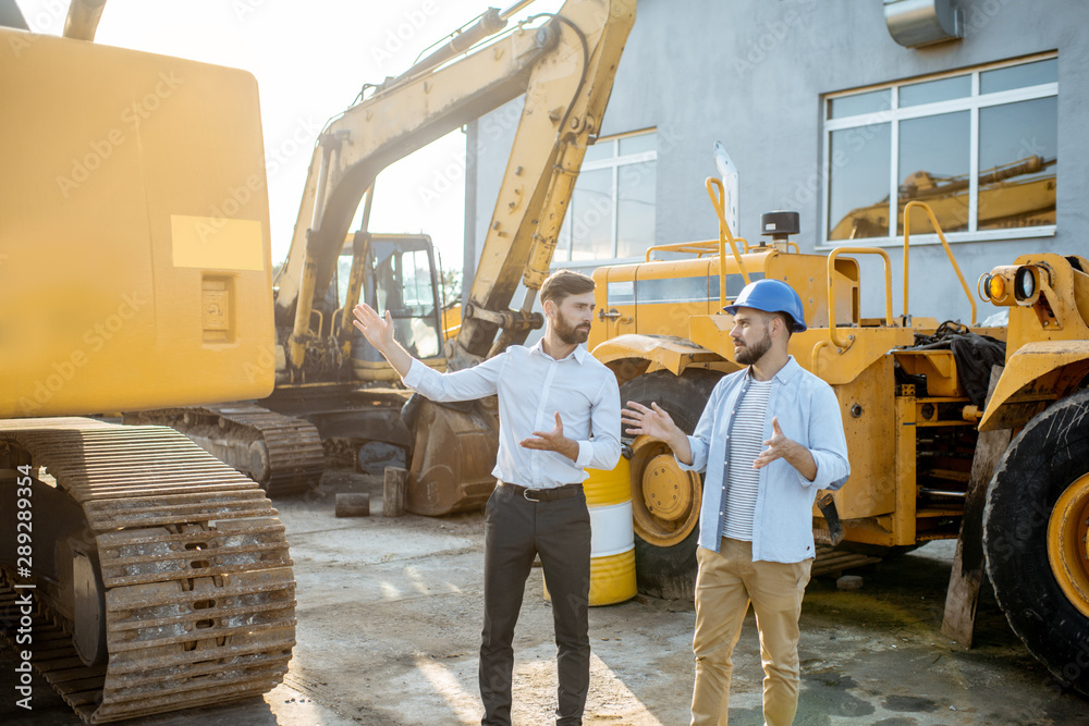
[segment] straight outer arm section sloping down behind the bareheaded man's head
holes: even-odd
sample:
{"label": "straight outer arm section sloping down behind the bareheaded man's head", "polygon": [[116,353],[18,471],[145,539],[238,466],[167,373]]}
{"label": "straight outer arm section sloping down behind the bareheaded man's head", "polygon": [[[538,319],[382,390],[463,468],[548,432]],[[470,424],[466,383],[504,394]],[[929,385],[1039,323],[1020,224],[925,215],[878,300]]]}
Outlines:
{"label": "straight outer arm section sloping down behind the bareheaded man's head", "polygon": [[[450,361],[454,368],[523,343],[535,327],[529,312],[548,276],[586,147],[601,128],[635,2],[570,0],[556,21],[560,44],[530,78]],[[526,296],[510,311],[519,282]],[[498,328],[503,332],[494,340]]]}

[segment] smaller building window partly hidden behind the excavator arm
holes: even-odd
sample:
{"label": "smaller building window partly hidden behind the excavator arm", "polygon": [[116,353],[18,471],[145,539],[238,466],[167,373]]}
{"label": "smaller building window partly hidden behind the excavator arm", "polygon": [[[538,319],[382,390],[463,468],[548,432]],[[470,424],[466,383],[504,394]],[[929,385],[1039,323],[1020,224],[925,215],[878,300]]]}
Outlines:
{"label": "smaller building window partly hidden behind the excavator arm", "polygon": [[654,244],[657,164],[654,132],[599,138],[588,147],[553,260],[641,257]]}

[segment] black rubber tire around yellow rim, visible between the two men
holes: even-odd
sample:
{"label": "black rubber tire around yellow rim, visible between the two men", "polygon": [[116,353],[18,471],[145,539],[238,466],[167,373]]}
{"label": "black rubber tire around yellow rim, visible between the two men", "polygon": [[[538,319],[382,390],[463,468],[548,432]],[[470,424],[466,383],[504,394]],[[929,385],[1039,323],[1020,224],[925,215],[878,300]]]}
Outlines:
{"label": "black rubber tire around yellow rim, visible between the two men", "polygon": [[[721,373],[703,369],[689,369],[680,377],[670,371],[654,371],[620,386],[621,404],[657,403],[685,433],[692,433],[720,378]],[[701,479],[699,485],[702,487]],[[683,541],[672,546],[657,546],[636,534],[635,577],[639,592],[665,600],[692,600],[696,592],[698,539],[698,521]]]}

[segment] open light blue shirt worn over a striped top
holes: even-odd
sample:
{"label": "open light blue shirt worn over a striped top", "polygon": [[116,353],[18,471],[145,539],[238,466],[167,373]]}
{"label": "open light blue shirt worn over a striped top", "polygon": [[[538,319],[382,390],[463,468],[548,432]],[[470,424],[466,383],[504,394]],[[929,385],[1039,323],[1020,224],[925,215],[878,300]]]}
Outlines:
{"label": "open light blue shirt worn over a striped top", "polygon": [[[688,436],[693,463],[686,466],[678,462],[684,469],[707,472],[699,512],[699,545],[715,552],[727,506],[726,467],[752,466],[751,462],[726,460],[730,429],[749,380],[745,368],[715,384],[696,430]],[[843,487],[851,466],[840,402],[832,386],[803,369],[794,356],[772,382],[763,440],[771,438],[772,417],[779,417],[783,435],[812,454],[817,477],[809,481],[783,458],[760,469],[752,516],[752,559],[795,563],[815,554],[812,506],[817,491]]]}

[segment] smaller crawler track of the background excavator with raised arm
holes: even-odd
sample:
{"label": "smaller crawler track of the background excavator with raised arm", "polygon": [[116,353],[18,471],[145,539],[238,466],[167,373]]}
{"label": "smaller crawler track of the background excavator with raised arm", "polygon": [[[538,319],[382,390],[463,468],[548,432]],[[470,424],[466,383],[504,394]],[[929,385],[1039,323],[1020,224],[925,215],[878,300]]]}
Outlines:
{"label": "smaller crawler track of the background excavator with raised arm", "polygon": [[270,497],[318,484],[325,452],[309,421],[250,403],[159,408],[125,415],[125,423],[169,426],[243,472]]}

